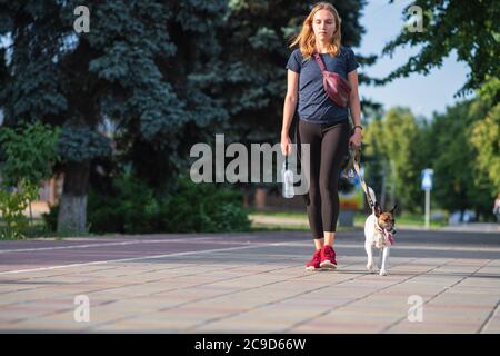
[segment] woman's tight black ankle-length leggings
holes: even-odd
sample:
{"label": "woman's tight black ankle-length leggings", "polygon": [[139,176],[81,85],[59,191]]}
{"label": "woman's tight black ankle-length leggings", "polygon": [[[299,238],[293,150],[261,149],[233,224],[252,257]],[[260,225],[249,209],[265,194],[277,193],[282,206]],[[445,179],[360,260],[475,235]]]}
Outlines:
{"label": "woman's tight black ankle-length leggings", "polygon": [[[349,148],[349,120],[334,123],[298,122],[299,144],[310,145],[310,172],[307,211],[312,238],[336,231],[339,218],[339,172]],[[302,168],[306,157],[301,157]]]}

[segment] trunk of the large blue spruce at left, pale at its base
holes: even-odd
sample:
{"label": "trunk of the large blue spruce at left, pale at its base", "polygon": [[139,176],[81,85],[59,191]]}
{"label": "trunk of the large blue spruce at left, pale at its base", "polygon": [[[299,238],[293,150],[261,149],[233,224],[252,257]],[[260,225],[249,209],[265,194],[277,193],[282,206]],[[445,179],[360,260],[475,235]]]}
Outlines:
{"label": "trunk of the large blue spruce at left, pale at its base", "polygon": [[69,162],[59,202],[58,234],[87,231],[87,192],[90,161]]}

